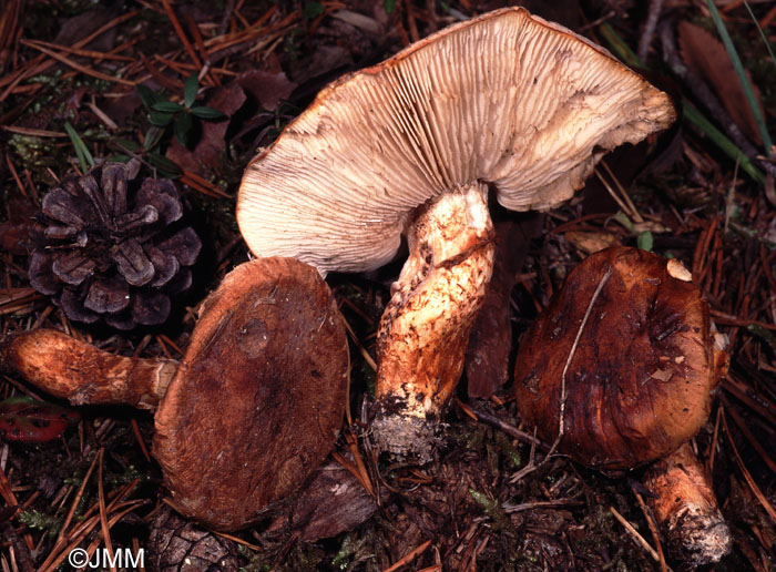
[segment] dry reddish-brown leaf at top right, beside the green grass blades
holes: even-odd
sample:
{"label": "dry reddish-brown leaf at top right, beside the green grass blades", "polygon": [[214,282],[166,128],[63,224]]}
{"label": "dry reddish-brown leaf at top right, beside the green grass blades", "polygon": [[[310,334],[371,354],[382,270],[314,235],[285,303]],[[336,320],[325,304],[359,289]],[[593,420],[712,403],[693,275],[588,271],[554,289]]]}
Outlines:
{"label": "dry reddish-brown leaf at top right, beside the green grass blades", "polygon": [[[762,144],[757,122],[722,42],[703,28],[686,21],[678,23],[677,32],[685,64],[708,82],[712,91],[719,98],[727,113],[746,136],[754,143]],[[747,78],[763,113],[759,90],[752,83],[748,72]]]}

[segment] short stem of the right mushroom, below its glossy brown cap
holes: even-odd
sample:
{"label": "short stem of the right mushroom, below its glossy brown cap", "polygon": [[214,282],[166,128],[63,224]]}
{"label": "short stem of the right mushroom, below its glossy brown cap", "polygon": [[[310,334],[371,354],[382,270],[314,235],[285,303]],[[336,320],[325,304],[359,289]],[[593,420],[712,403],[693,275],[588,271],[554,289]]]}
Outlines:
{"label": "short stem of the right mushroom, below its glossy brown cap", "polygon": [[644,484],[656,496],[649,503],[672,558],[701,566],[729,552],[731,531],[690,443],[655,461],[644,474]]}

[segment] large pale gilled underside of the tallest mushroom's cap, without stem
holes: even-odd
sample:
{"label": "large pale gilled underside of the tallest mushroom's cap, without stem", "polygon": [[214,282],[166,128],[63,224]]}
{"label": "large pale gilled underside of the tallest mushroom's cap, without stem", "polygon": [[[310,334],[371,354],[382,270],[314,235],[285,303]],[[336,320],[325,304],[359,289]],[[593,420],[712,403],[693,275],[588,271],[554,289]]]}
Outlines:
{"label": "large pale gilled underside of the tallest mushroom's cap, without stem", "polygon": [[508,8],[325,88],[248,165],[237,221],[257,256],[376,268],[429,198],[479,181],[508,208],[550,208],[673,118],[602,48]]}

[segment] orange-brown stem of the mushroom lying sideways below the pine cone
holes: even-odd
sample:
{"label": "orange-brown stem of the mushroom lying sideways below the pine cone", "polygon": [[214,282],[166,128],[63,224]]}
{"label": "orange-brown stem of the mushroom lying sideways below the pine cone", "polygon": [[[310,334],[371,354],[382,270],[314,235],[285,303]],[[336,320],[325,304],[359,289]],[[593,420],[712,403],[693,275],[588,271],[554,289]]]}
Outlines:
{"label": "orange-brown stem of the mushroom lying sideways below the pine cone", "polygon": [[0,347],[0,369],[73,405],[154,409],[177,362],[115,356],[53,329],[24,331]]}

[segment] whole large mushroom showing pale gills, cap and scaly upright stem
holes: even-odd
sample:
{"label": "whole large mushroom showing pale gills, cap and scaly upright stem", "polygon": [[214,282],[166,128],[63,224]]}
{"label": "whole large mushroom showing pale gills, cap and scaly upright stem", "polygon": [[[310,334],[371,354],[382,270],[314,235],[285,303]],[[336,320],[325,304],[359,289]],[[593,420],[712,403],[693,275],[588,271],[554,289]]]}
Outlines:
{"label": "whole large mushroom showing pale gills, cap and scaly upright stem", "polygon": [[493,264],[489,195],[548,210],[605,151],[665,129],[665,93],[607,51],[507,8],[346,75],[247,166],[257,256],[326,275],[409,257],[377,337],[378,445],[427,460]]}

